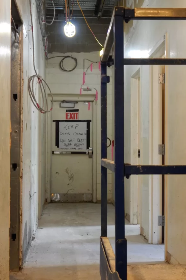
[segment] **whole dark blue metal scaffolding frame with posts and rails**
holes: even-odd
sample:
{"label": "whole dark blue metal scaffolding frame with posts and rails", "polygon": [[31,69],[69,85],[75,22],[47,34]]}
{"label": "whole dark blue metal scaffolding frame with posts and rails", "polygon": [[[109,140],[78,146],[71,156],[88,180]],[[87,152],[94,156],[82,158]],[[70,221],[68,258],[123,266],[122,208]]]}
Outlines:
{"label": "whole dark blue metal scaffolding frame with posts and rails", "polygon": [[[186,59],[124,58],[124,23],[130,20],[186,20],[186,9],[115,7],[101,56],[101,280],[127,279],[124,177],[186,174],[186,166],[137,166],[124,160],[124,65],[186,65]],[[110,55],[114,48],[114,59]],[[115,159],[107,160],[107,66],[114,65]],[[115,256],[107,238],[107,169],[115,174]]]}

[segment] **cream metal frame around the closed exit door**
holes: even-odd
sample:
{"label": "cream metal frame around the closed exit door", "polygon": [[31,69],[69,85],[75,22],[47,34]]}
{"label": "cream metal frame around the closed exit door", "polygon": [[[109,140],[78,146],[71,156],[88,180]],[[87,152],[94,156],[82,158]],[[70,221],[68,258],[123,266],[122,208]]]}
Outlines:
{"label": "cream metal frame around the closed exit door", "polygon": [[[89,101],[93,105],[93,182],[92,182],[92,202],[97,201],[97,101],[95,100],[95,94],[92,93],[82,93],[81,95],[77,94],[55,94],[53,95],[54,101],[61,100],[69,101]],[[51,104],[51,96],[48,95],[48,104]],[[50,106],[49,106],[50,107]],[[46,199],[47,202],[51,202],[51,114],[47,114],[46,121]]]}

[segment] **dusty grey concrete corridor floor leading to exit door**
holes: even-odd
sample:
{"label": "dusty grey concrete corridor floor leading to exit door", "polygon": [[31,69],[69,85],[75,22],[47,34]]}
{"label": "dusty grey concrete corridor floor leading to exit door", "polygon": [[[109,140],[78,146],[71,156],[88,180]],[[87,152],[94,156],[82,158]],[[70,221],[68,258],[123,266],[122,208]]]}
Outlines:
{"label": "dusty grey concrete corridor floor leading to exit door", "polygon": [[[186,279],[186,266],[163,263],[163,245],[149,245],[139,226],[126,225],[128,279]],[[48,204],[24,269],[10,280],[100,280],[100,204]],[[114,248],[114,207],[108,205],[108,237]],[[134,265],[139,263],[156,265]]]}

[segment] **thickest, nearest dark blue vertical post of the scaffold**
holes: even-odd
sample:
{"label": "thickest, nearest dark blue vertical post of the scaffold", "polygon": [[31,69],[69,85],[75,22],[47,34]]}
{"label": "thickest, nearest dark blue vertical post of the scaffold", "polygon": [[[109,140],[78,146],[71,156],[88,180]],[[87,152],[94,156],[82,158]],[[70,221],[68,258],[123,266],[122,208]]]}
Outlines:
{"label": "thickest, nearest dark blue vertical post of the scaffold", "polygon": [[114,16],[114,117],[115,117],[115,246],[116,271],[127,279],[124,199],[124,8],[115,7]]}

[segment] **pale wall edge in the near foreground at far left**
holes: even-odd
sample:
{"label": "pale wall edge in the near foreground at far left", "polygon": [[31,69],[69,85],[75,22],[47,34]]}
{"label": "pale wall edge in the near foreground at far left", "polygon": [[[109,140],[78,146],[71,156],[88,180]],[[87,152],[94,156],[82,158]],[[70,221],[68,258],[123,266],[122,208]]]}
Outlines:
{"label": "pale wall edge in the near foreground at far left", "polygon": [[9,280],[10,226],[10,1],[0,9],[0,280]]}

